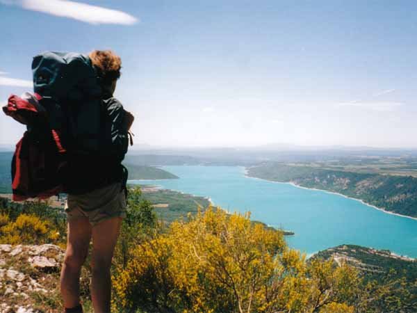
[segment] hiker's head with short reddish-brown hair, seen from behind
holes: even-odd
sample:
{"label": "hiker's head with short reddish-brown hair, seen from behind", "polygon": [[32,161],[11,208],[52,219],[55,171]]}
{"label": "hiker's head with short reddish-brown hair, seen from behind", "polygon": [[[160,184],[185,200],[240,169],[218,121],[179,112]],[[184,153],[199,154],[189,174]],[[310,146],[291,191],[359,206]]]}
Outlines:
{"label": "hiker's head with short reddish-brown hair, seen from behind", "polygon": [[97,70],[101,87],[113,95],[122,68],[120,56],[111,50],[94,50],[88,56]]}

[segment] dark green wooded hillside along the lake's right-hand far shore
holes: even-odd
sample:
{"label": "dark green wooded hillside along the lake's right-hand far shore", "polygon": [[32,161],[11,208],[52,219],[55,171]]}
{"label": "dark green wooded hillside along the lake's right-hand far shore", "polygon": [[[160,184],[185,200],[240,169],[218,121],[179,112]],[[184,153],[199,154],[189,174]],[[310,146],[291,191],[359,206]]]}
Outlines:
{"label": "dark green wooded hillside along the lake's right-hand far shore", "polygon": [[326,170],[281,163],[265,163],[248,168],[247,175],[333,191],[361,199],[386,211],[417,217],[417,178],[411,176]]}

